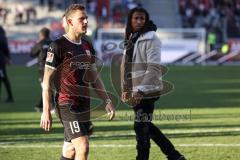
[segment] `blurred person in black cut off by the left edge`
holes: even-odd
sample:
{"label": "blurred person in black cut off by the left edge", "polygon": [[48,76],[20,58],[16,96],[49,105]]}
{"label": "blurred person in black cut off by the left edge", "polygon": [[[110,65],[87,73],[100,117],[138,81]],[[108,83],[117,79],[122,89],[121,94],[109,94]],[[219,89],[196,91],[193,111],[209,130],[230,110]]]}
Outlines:
{"label": "blurred person in black cut off by the left edge", "polygon": [[10,62],[10,54],[6,34],[2,26],[0,26],[0,42],[0,89],[3,82],[7,90],[7,98],[5,102],[13,102],[11,85],[6,72],[6,64]]}

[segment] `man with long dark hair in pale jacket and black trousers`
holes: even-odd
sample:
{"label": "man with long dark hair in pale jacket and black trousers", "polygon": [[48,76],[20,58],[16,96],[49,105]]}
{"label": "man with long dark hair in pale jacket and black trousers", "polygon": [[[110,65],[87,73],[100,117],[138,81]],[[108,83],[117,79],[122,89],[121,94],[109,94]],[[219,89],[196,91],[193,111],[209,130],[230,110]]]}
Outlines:
{"label": "man with long dark hair in pale jacket and black trousers", "polygon": [[128,14],[121,65],[122,100],[132,102],[135,113],[134,131],[137,141],[136,160],[148,160],[150,139],[167,156],[168,160],[185,160],[169,139],[151,122],[154,103],[163,88],[161,73],[161,42],[157,27],[149,20],[143,8],[134,8]]}

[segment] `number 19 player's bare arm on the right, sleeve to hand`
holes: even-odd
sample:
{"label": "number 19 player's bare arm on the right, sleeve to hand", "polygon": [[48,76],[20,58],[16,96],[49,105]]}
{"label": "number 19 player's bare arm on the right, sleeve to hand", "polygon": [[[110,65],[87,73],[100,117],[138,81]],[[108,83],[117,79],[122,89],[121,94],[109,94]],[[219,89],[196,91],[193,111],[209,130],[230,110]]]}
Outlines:
{"label": "number 19 player's bare arm on the right, sleeve to hand", "polygon": [[109,119],[112,120],[115,117],[115,107],[109,98],[107,91],[105,89],[105,86],[99,76],[99,73],[97,71],[96,64],[91,64],[90,71],[89,71],[90,77],[91,77],[91,85],[95,89],[98,96],[103,99],[106,103],[106,111],[108,113]]}

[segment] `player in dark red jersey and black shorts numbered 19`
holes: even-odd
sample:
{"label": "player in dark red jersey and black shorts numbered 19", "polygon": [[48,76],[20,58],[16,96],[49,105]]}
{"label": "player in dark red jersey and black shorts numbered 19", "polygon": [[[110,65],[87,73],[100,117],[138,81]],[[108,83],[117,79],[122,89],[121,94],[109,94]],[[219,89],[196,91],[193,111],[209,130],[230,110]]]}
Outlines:
{"label": "player in dark red jersey and black shorts numbered 19", "polygon": [[92,44],[82,38],[88,24],[85,8],[72,4],[65,16],[68,32],[50,45],[46,58],[40,126],[45,131],[51,129],[50,105],[54,86],[57,112],[64,126],[61,160],[87,160],[91,124],[89,83],[105,101],[110,120],[115,116],[115,109],[98,76]]}

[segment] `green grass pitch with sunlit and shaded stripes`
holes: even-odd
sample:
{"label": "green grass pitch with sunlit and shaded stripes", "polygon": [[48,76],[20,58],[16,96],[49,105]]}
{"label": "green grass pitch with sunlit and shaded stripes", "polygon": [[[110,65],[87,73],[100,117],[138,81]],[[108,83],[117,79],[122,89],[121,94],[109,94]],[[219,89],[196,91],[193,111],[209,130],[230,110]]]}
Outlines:
{"label": "green grass pitch with sunlit and shaded stripes", "polygon": [[[0,159],[58,160],[61,124],[53,116],[52,131],[44,133],[39,127],[40,113],[33,111],[41,92],[36,68],[11,66],[8,75],[15,103],[0,102]],[[109,68],[101,76],[117,99]],[[189,160],[240,159],[239,66],[169,66],[163,79],[174,84],[174,90],[156,103],[154,123],[177,149]],[[131,108],[119,103],[113,122],[104,116],[94,120],[89,159],[134,160],[132,118]],[[154,142],[150,159],[166,159]]]}

